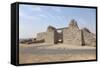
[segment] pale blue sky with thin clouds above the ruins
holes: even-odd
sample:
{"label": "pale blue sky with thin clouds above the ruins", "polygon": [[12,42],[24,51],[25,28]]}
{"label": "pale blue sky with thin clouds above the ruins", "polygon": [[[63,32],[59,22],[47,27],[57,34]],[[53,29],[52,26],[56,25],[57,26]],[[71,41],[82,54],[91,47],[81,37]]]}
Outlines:
{"label": "pale blue sky with thin clouds above the ruins", "polygon": [[95,33],[96,10],[91,8],[19,5],[19,38],[36,37],[45,32],[49,25],[56,28],[68,27],[75,19],[78,26]]}

